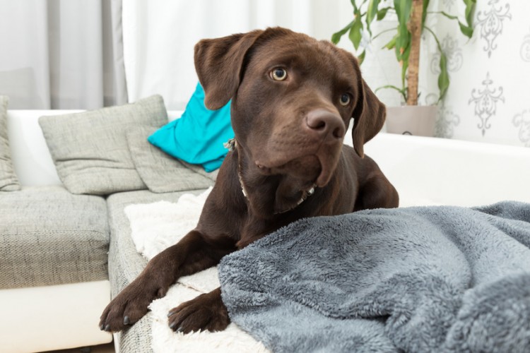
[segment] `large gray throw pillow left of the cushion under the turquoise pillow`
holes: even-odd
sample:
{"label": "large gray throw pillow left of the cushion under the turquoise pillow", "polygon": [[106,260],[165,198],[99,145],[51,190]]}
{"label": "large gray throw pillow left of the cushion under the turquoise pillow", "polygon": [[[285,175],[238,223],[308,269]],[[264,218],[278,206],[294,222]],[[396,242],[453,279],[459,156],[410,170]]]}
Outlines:
{"label": "large gray throw pillow left of the cushion under the turquoise pillow", "polygon": [[39,119],[57,174],[71,193],[107,195],[146,189],[134,168],[126,130],[167,123],[160,95],[119,107],[41,116]]}

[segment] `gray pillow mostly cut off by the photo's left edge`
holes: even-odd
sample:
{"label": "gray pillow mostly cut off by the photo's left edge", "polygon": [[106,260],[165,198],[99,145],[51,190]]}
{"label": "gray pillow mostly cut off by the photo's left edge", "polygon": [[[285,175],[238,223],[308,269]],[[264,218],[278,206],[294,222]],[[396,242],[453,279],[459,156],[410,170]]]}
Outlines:
{"label": "gray pillow mostly cut off by the photo's left edge", "polygon": [[8,97],[0,95],[0,191],[20,190],[13,163],[11,149],[7,136],[7,104]]}

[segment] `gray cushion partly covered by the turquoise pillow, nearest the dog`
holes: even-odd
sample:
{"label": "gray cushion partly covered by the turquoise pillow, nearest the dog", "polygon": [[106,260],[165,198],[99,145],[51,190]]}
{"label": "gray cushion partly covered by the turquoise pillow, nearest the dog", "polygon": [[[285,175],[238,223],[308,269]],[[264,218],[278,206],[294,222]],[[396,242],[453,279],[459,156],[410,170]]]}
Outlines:
{"label": "gray cushion partly covered by the turquoise pillow, nearest the dog", "polygon": [[154,193],[208,189],[212,180],[184,167],[176,158],[167,155],[148,142],[156,128],[136,126],[127,131],[129,150],[141,179]]}

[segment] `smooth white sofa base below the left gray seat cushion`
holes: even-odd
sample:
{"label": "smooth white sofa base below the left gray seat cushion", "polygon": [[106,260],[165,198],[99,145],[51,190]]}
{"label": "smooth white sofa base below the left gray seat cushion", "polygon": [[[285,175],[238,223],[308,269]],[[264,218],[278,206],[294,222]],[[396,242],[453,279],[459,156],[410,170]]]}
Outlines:
{"label": "smooth white sofa base below the left gray seat cushion", "polygon": [[112,335],[98,328],[110,301],[110,282],[0,290],[0,352],[43,352],[100,345]]}

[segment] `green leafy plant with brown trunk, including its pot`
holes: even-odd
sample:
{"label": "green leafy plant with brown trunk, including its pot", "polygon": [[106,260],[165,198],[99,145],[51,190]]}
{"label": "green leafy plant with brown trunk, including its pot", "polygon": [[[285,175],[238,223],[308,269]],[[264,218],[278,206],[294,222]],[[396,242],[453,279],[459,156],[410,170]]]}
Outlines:
{"label": "green leafy plant with brown trunk, including its pot", "polygon": [[[381,88],[390,88],[398,91],[406,103],[406,107],[417,107],[415,112],[410,109],[389,109],[387,113],[387,131],[404,133],[410,132],[413,135],[432,136],[435,119],[436,107],[425,107],[430,112],[430,118],[425,117],[425,112],[418,109],[418,68],[420,64],[420,43],[421,35],[424,31],[434,37],[437,49],[440,52],[440,74],[438,76],[438,89],[440,95],[438,102],[443,100],[447,88],[449,88],[449,75],[447,73],[447,56],[442,50],[440,40],[435,32],[425,25],[427,16],[445,16],[450,20],[456,21],[463,35],[468,38],[473,36],[473,11],[475,10],[476,0],[461,0],[465,5],[464,23],[457,16],[451,15],[444,11],[429,11],[429,0],[351,0],[353,6],[353,20],[345,28],[334,33],[331,42],[337,44],[343,35],[348,33],[348,38],[353,43],[355,51],[358,52],[358,60],[363,63],[366,55],[366,47],[363,46],[361,39],[363,35],[368,38],[368,42],[375,40],[386,32],[395,32],[384,48],[394,50],[396,60],[401,66],[401,88],[396,85],[384,85]],[[395,13],[397,25],[374,35],[372,33],[372,24],[376,20],[383,20],[388,13]],[[376,92],[377,92],[376,90]],[[393,116],[394,114],[402,117]],[[413,115],[418,115],[414,117]],[[396,119],[394,119],[396,118]],[[408,120],[407,122],[404,121]],[[402,121],[406,126],[394,126],[394,122]],[[418,121],[417,123],[410,120]],[[401,124],[401,122],[398,122]]]}

